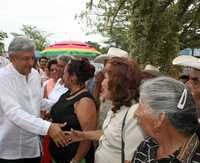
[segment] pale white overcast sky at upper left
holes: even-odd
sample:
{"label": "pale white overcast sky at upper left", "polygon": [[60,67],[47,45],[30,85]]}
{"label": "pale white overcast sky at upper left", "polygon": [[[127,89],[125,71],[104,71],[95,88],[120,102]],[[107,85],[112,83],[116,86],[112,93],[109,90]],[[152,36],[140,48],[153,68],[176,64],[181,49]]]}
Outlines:
{"label": "pale white overcast sky at upper left", "polygon": [[[1,0],[0,31],[20,33],[23,24],[53,33],[48,39],[56,41],[102,41],[100,36],[86,36],[75,20],[85,9],[87,0]],[[12,37],[5,40],[6,47]]]}

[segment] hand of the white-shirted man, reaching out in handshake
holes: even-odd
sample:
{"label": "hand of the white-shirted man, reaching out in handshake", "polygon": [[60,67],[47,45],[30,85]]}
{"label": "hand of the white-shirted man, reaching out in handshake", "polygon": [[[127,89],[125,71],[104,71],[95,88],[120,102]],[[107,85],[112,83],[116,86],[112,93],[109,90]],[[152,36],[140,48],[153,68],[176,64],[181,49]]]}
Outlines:
{"label": "hand of the white-shirted man, reaching out in handshake", "polygon": [[67,123],[52,123],[49,127],[48,135],[53,139],[57,147],[60,145],[64,147],[65,145],[69,144],[68,141],[65,140],[64,131],[62,131],[62,127],[64,127],[66,124]]}

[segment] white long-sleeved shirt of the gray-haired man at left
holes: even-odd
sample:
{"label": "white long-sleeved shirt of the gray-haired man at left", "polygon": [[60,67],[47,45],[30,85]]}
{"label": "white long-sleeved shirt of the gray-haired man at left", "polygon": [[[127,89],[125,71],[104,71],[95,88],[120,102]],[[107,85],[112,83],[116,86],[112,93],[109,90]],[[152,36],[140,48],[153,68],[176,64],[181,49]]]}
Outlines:
{"label": "white long-sleeved shirt of the gray-haired man at left", "polygon": [[28,79],[12,64],[0,69],[0,158],[21,159],[40,156],[40,138],[46,135],[50,122],[40,117],[41,79],[32,69]]}

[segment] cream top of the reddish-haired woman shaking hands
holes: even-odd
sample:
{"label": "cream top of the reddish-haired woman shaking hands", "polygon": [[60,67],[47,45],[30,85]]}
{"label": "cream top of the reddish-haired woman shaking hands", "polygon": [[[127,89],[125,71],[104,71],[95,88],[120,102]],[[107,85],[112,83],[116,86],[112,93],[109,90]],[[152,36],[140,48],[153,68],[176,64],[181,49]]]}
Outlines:
{"label": "cream top of the reddish-haired woman shaking hands", "polygon": [[133,117],[137,107],[138,105],[133,105],[130,108],[122,106],[116,113],[112,110],[108,111],[103,123],[103,135],[99,140],[99,146],[95,153],[95,163],[121,163],[122,122],[128,109],[123,129],[124,158],[131,161],[134,151],[143,140],[142,130]]}

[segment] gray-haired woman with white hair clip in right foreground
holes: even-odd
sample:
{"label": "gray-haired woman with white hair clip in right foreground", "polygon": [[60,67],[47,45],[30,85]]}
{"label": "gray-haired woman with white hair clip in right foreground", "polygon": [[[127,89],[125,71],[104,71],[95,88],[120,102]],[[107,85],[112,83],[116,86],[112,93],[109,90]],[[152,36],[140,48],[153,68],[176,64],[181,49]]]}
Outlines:
{"label": "gray-haired woman with white hair clip in right foreground", "polygon": [[200,162],[196,105],[183,83],[169,77],[143,83],[135,116],[150,137],[137,148],[133,163]]}

